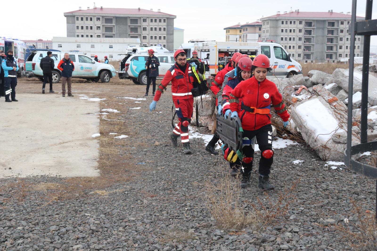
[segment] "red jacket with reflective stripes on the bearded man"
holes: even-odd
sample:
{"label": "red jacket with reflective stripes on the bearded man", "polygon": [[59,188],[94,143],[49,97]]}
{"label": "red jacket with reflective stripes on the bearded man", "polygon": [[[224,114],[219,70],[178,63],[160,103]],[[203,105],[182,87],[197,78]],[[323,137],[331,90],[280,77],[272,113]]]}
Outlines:
{"label": "red jacket with reflective stripes on the bearded man", "polygon": [[166,86],[172,82],[172,97],[176,99],[189,99],[193,98],[191,89],[193,89],[194,74],[191,71],[190,64],[186,63],[186,70],[182,72],[178,65],[173,65],[165,74],[164,79],[159,84],[154,101],[158,101],[161,94],[166,90]]}

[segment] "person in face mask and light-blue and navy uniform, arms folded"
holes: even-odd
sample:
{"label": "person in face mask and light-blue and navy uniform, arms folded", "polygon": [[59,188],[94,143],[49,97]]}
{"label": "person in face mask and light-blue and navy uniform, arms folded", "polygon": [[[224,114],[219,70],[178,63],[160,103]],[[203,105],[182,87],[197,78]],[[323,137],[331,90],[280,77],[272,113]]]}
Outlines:
{"label": "person in face mask and light-blue and navy uniform, arms folded", "polygon": [[[4,70],[5,102],[18,101],[16,99],[18,64],[13,57],[12,50],[6,52],[6,58],[3,59],[1,66]],[[11,99],[9,99],[9,95],[11,95]]]}

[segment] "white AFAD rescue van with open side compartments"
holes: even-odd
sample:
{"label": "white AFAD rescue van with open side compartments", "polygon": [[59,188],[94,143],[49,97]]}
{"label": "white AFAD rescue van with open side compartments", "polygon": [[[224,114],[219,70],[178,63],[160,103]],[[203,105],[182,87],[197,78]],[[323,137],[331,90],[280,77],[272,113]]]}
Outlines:
{"label": "white AFAD rescue van with open side compartments", "polygon": [[244,42],[216,42],[216,41],[192,41],[179,46],[187,57],[192,57],[193,51],[198,51],[198,57],[206,64],[206,71],[215,76],[224,69],[225,64],[235,52],[248,55],[265,54],[270,59],[270,67],[273,75],[280,78],[289,78],[292,75],[302,74],[302,66],[295,61],[287,51],[274,41],[262,41],[255,43]]}

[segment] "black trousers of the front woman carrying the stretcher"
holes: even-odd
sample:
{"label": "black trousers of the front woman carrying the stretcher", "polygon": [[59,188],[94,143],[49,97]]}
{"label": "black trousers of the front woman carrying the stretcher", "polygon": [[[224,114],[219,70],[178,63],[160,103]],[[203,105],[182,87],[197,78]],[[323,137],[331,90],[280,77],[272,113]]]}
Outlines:
{"label": "black trousers of the front woman carrying the stretcher", "polygon": [[[270,159],[266,159],[262,156],[262,153],[265,150],[272,150],[271,124],[265,125],[253,131],[248,131],[244,129],[243,136],[249,139],[252,139],[254,138],[254,136],[256,136],[259,150],[261,150],[261,159],[259,160],[259,173],[262,175],[270,174],[270,168],[271,168],[274,158],[271,157]],[[244,148],[242,148],[242,153],[244,153],[245,157],[254,157],[254,149],[251,145],[244,146]],[[237,161],[234,164],[240,166],[241,161],[237,159]],[[251,161],[250,163],[242,163],[242,167],[243,167],[243,175],[249,175],[251,172],[251,169],[253,168],[253,161]]]}

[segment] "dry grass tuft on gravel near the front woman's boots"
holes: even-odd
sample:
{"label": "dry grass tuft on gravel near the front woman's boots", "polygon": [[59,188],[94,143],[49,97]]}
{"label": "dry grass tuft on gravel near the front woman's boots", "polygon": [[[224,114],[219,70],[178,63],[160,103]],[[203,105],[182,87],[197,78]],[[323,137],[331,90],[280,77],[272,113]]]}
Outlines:
{"label": "dry grass tuft on gravel near the front woman's boots", "polygon": [[215,218],[219,228],[241,230],[245,227],[256,227],[259,223],[256,212],[247,212],[239,202],[241,188],[239,182],[228,174],[226,165],[218,165],[213,170],[216,182],[207,180],[204,183],[205,205]]}

